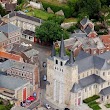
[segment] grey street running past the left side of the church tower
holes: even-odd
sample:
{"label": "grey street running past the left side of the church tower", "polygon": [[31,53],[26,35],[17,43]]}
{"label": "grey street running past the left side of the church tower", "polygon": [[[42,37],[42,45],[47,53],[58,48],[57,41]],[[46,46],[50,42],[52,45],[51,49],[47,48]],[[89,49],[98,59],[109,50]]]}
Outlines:
{"label": "grey street running past the left side of the church tower", "polygon": [[[26,44],[31,44],[33,49],[39,51],[39,60],[41,63],[41,70],[40,70],[40,88],[41,88],[41,94],[40,94],[40,101],[42,102],[42,106],[45,107],[45,104],[48,103],[51,106],[50,110],[56,110],[58,107],[56,107],[54,104],[48,102],[45,98],[45,91],[46,91],[46,81],[43,81],[43,75],[47,75],[46,68],[42,67],[42,63],[46,62],[46,59],[50,56],[51,53],[51,47],[41,46],[39,44],[35,44],[31,41],[21,39],[21,42],[25,42]],[[33,102],[29,108],[33,109],[37,107],[37,104],[39,102],[35,101]]]}

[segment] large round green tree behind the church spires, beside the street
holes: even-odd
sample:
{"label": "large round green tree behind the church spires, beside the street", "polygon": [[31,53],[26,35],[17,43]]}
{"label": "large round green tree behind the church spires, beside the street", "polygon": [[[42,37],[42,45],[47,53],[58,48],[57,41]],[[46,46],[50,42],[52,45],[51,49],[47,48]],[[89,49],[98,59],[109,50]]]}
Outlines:
{"label": "large round green tree behind the church spires, beside the street", "polygon": [[40,27],[36,27],[35,33],[41,42],[53,43],[53,41],[61,40],[62,35],[64,39],[68,38],[68,33],[63,30],[58,23],[53,21],[45,21]]}

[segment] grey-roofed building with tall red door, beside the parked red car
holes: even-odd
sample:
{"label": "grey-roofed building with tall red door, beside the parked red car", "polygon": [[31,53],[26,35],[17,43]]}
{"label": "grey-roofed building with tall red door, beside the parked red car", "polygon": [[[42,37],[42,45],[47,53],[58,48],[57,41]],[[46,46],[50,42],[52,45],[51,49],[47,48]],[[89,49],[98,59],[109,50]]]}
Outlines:
{"label": "grey-roofed building with tall red door, beside the parked red car", "polygon": [[[13,82],[13,83],[12,83]],[[0,74],[0,97],[10,101],[24,101],[30,96],[30,82]]]}

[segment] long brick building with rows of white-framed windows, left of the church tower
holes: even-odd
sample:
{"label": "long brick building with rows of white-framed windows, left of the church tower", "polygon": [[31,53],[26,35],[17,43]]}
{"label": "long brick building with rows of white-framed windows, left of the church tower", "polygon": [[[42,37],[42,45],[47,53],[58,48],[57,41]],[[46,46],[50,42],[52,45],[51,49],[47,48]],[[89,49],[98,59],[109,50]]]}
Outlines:
{"label": "long brick building with rows of white-framed windows, left of the church tower", "polygon": [[7,60],[0,64],[0,70],[6,71],[9,76],[29,81],[31,83],[31,92],[38,88],[40,84],[39,68],[37,65]]}

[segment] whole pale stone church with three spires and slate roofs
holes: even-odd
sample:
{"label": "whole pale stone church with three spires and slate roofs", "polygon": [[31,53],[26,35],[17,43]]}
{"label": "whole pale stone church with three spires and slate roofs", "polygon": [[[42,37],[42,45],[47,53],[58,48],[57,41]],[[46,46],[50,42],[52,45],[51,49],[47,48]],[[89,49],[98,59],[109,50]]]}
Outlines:
{"label": "whole pale stone church with three spires and slate roofs", "polygon": [[47,59],[46,98],[57,106],[79,106],[83,100],[100,95],[100,102],[110,99],[110,52],[92,56],[82,52],[67,56],[64,41],[57,55],[53,45]]}

